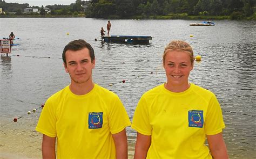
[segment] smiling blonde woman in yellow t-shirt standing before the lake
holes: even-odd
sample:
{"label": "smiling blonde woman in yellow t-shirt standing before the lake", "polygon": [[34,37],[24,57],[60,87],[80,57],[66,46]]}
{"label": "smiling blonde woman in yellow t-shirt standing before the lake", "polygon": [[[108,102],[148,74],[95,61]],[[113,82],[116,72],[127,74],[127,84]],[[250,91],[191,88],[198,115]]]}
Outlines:
{"label": "smiling blonde woman in yellow t-shirt standing before the lake", "polygon": [[188,82],[193,66],[187,42],[165,47],[167,82],[145,92],[134,112],[134,158],[228,158],[219,102],[211,91]]}

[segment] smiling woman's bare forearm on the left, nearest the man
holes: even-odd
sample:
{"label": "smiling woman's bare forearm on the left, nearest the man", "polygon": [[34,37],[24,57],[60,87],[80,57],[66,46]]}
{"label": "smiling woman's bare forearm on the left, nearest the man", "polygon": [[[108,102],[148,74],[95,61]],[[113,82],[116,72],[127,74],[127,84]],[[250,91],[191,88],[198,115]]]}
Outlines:
{"label": "smiling woman's bare forearm on the left, nearest the man", "polygon": [[134,159],[146,158],[151,144],[151,136],[137,133]]}

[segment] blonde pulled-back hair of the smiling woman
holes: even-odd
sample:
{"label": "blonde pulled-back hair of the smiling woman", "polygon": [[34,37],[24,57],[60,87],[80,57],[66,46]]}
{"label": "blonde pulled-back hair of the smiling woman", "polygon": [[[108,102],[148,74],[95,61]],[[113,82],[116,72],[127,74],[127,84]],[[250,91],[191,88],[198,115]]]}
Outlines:
{"label": "blonde pulled-back hair of the smiling woman", "polygon": [[191,64],[194,63],[194,53],[192,47],[185,41],[181,40],[173,40],[171,41],[164,49],[164,54],[163,54],[163,62],[165,61],[165,56],[167,51],[172,51],[172,50],[180,50],[183,52],[187,52],[190,55],[190,61]]}

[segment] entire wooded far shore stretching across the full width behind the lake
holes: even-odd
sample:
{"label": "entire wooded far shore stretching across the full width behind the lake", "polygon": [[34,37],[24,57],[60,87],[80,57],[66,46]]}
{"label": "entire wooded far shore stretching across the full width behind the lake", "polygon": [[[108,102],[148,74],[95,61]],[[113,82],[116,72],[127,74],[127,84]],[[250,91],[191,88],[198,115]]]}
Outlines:
{"label": "entire wooded far shore stretching across the full width behind the lake", "polygon": [[[230,16],[231,19],[256,19],[255,0],[91,0],[84,4],[76,0],[70,5],[46,5],[51,15],[78,15],[85,13],[87,18],[149,18],[152,16]],[[43,6],[29,6],[28,3],[5,3],[0,8],[6,12],[22,14],[25,8],[37,8],[43,12]],[[32,13],[31,13],[32,14]]]}

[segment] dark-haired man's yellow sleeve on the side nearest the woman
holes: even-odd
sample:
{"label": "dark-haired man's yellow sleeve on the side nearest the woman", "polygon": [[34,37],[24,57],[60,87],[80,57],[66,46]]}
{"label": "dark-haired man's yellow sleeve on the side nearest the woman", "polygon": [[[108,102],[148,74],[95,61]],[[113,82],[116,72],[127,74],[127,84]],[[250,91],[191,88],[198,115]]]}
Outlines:
{"label": "dark-haired man's yellow sleeve on the side nearest the woman", "polygon": [[113,100],[113,106],[111,107],[109,115],[110,132],[111,134],[119,133],[123,131],[125,127],[130,125],[131,121],[125,107],[121,100],[116,96],[116,98]]}

